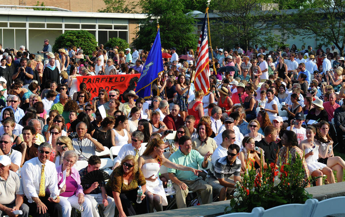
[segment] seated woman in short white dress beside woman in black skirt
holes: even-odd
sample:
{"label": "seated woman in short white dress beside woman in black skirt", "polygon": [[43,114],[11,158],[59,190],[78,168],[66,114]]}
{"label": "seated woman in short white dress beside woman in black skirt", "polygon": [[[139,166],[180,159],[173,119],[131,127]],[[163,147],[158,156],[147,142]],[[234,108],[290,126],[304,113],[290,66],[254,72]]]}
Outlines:
{"label": "seated woman in short white dress beside woman in black skirt", "polygon": [[316,135],[316,128],[308,126],[306,129],[307,139],[299,143],[299,148],[304,151],[305,162],[312,177],[321,176],[316,180],[316,186],[322,185],[323,174],[327,175],[329,184],[335,183],[334,174],[332,169],[327,167],[326,164],[317,161],[319,158],[319,151],[323,153],[321,143],[314,139]]}

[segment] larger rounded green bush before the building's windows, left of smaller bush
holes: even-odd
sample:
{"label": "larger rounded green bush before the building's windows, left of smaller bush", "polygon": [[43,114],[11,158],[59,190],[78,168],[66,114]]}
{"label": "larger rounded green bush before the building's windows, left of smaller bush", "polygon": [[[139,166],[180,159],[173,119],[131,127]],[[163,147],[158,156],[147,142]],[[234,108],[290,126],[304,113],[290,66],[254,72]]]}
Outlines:
{"label": "larger rounded green bush before the building's windows, left of smaller bush", "polygon": [[60,34],[53,46],[53,52],[58,52],[61,47],[69,47],[75,45],[81,47],[84,55],[91,55],[96,49],[97,41],[95,36],[86,30],[68,30]]}

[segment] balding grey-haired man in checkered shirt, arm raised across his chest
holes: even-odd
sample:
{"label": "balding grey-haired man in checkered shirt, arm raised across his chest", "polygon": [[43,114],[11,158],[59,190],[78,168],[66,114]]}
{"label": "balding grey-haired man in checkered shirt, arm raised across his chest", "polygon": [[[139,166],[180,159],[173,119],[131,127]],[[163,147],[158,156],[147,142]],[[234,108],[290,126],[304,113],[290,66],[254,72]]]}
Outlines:
{"label": "balding grey-haired man in checkered shirt, arm raised across his chest", "polygon": [[88,160],[92,155],[104,151],[104,147],[96,139],[87,134],[87,126],[84,122],[79,122],[76,126],[78,138],[72,139],[72,146],[76,150],[78,160]]}

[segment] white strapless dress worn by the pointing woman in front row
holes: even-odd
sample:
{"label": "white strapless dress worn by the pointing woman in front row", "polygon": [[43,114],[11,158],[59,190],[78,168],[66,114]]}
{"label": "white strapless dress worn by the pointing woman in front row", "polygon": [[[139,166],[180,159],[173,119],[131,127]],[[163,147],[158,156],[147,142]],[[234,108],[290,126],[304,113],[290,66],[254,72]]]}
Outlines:
{"label": "white strapless dress worn by the pointing woman in front row", "polygon": [[[145,176],[145,178],[148,178],[152,175],[154,175],[154,177],[158,177],[159,169],[160,167],[158,163],[147,163],[142,165],[141,172]],[[163,188],[163,183],[159,178],[153,182],[146,180],[146,191],[149,191],[152,194],[160,195],[163,198],[162,205],[168,205],[167,197],[165,196],[165,190]]]}

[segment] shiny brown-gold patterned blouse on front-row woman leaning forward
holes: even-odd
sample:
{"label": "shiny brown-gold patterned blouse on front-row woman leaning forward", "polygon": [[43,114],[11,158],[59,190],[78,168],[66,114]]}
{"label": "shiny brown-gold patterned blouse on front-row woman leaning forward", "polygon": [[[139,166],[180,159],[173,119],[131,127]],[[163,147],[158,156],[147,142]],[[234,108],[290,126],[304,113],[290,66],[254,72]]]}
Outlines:
{"label": "shiny brown-gold patterned blouse on front-row woman leaning forward", "polygon": [[133,174],[133,180],[129,183],[129,185],[126,185],[124,183],[124,171],[120,165],[116,167],[114,171],[112,171],[110,179],[106,184],[106,189],[111,189],[112,191],[116,191],[118,193],[124,193],[125,191],[136,189],[138,185],[143,186],[145,184],[145,177],[139,168],[138,171]]}

